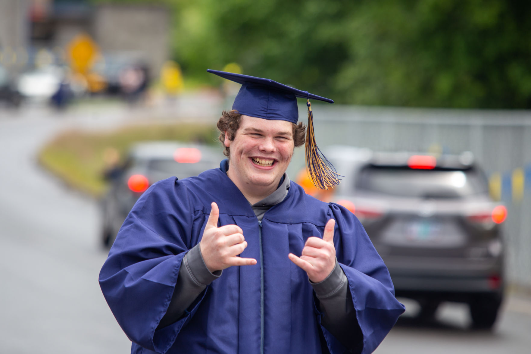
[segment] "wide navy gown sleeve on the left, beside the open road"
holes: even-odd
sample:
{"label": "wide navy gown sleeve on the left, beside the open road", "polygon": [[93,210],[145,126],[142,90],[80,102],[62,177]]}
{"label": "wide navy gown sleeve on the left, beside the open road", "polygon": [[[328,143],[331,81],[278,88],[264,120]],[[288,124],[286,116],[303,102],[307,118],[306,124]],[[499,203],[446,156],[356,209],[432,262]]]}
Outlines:
{"label": "wide navy gown sleeve on the left, beside the open road", "polygon": [[204,224],[189,192],[176,178],[153,184],[122,225],[101,268],[101,290],[127,337],[165,353],[195,313],[203,291],[177,322],[157,329],[175,290],[182,260]]}

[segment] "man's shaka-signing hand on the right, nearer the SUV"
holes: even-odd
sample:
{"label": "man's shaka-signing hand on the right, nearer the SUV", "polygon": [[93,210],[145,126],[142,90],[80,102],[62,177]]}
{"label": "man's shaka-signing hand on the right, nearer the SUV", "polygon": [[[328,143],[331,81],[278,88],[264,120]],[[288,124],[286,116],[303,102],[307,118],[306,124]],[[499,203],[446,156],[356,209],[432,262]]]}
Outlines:
{"label": "man's shaka-signing hand on the right, nearer the SUV", "polygon": [[336,266],[336,247],[333,245],[335,225],[336,221],[330,219],[324,226],[322,239],[318,237],[308,238],[302,249],[301,257],[297,257],[293,253],[288,255],[289,259],[301,267],[314,283],[325,280]]}

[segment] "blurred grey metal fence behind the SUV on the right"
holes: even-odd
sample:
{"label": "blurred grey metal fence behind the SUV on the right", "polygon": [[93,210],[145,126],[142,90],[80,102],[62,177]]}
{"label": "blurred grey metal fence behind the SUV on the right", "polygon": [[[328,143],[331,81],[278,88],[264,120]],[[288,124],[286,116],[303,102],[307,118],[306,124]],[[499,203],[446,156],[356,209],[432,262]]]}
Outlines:
{"label": "blurred grey metal fence behind the SUV on the right", "polygon": [[[320,147],[472,151],[489,176],[491,193],[508,209],[504,223],[508,279],[531,288],[531,111],[327,105],[313,105],[313,111]],[[304,121],[305,107],[300,107],[299,115]],[[294,158],[300,160],[301,151]]]}

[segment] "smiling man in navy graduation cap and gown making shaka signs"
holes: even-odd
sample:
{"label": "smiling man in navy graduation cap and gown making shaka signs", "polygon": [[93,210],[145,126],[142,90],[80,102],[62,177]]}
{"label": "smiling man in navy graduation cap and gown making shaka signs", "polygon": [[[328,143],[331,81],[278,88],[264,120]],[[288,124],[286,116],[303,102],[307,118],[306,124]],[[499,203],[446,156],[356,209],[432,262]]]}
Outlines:
{"label": "smiling man in navy graduation cap and gown making shaka signs", "polygon": [[[132,353],[374,351],[404,311],[388,270],[354,214],[285,173],[304,141],[296,97],[332,100],[209,72],[242,83],[218,123],[229,158],[153,184],[100,272]],[[319,156],[307,163],[316,184],[337,183]]]}

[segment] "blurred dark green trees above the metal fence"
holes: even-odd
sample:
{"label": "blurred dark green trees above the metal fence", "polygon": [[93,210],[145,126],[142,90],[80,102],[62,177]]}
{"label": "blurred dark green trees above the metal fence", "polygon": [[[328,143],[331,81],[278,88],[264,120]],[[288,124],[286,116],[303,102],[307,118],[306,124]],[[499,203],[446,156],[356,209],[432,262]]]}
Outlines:
{"label": "blurred dark green trees above the metal fence", "polygon": [[236,62],[337,103],[531,108],[527,1],[158,2],[194,81],[219,85],[205,69]]}

